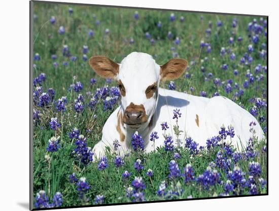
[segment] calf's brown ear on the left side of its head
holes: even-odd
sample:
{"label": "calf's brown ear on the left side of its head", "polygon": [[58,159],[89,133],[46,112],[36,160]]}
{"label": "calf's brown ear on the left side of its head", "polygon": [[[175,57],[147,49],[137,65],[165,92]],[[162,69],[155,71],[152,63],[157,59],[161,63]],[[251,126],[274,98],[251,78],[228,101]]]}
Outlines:
{"label": "calf's brown ear on the left side of its head", "polygon": [[106,56],[92,56],[90,67],[101,77],[115,79],[119,73],[119,65]]}

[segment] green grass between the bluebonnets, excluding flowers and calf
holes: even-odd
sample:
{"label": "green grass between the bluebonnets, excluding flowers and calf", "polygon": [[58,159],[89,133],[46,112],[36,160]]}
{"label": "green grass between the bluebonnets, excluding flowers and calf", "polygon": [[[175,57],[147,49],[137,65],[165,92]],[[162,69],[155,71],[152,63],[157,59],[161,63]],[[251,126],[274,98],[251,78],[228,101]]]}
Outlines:
{"label": "green grass between the bluebonnets, excluding flowers and calf", "polygon": [[[70,15],[68,13],[68,7],[73,8],[73,14]],[[219,92],[220,95],[232,99],[247,110],[250,110],[255,104],[251,99],[261,98],[263,101],[266,100],[266,72],[263,69],[259,73],[254,72],[258,64],[263,67],[266,66],[266,56],[259,56],[259,52],[264,49],[262,43],[266,44],[264,33],[259,35],[260,41],[257,44],[253,44],[254,51],[251,53],[253,62],[248,65],[239,64],[240,58],[247,52],[247,47],[251,44],[247,26],[255,17],[175,12],[176,20],[171,22],[169,20],[171,12],[168,11],[137,11],[140,17],[138,20],[133,17],[134,9],[34,3],[34,14],[37,15],[37,18],[34,19],[33,24],[33,53],[39,53],[41,59],[40,61],[34,61],[35,66],[32,75],[35,78],[42,72],[46,73],[47,78],[42,83],[44,92],[50,87],[56,92],[54,103],[44,107],[33,105],[35,109],[41,112],[40,120],[34,122],[33,126],[34,197],[40,190],[45,190],[50,198],[56,192],[61,192],[63,194],[62,206],[94,204],[95,196],[98,194],[104,195],[104,203],[129,202],[130,199],[126,197],[126,188],[131,184],[134,176],[143,177],[146,185],[144,190],[145,199],[148,201],[163,199],[156,194],[163,180],[166,180],[168,190],[172,190],[173,187],[179,187],[184,190],[178,195],[172,195],[173,199],[185,199],[189,196],[193,198],[212,197],[224,193],[224,185],[222,183],[205,190],[196,182],[190,185],[185,184],[183,177],[168,178],[168,163],[173,160],[173,153],[165,152],[164,148],[158,148],[156,152],[150,154],[132,152],[124,158],[125,165],[119,168],[114,166],[115,154],[108,153],[109,165],[103,171],[97,169],[97,163],[93,162],[84,165],[72,155],[76,145],[75,140],[70,139],[68,133],[74,127],[77,127],[81,134],[87,138],[87,146],[93,147],[101,139],[101,129],[106,119],[117,107],[115,105],[112,110],[104,110],[102,100],[97,103],[94,109],[90,109],[87,106],[90,100],[90,95],[87,92],[94,94],[97,88],[104,85],[109,87],[116,86],[116,83],[106,82],[106,80],[99,78],[89,67],[88,61],[83,61],[83,45],[89,47],[88,58],[92,55],[106,55],[118,63],[130,52],[141,51],[153,55],[157,64],[164,64],[173,57],[173,52],[176,52],[179,57],[187,59],[189,67],[186,72],[191,75],[190,78],[181,77],[175,81],[177,91],[198,96],[201,91],[205,91],[207,97],[212,97],[215,92]],[[95,18],[93,14],[96,16]],[[202,20],[200,18],[201,15],[203,16]],[[55,24],[49,22],[51,16],[56,17]],[[180,16],[185,17],[184,22],[179,20]],[[237,26],[235,28],[231,27],[233,18],[237,18]],[[100,20],[99,25],[95,24],[96,20]],[[222,27],[217,26],[217,20],[223,22]],[[259,22],[260,18],[256,17],[256,20]],[[156,26],[158,21],[162,22],[160,29]],[[208,28],[208,21],[212,21],[212,33],[209,35],[205,33]],[[65,27],[65,34],[63,35],[58,34],[60,25]],[[105,34],[106,28],[110,29],[107,35]],[[93,37],[88,36],[89,29],[94,31]],[[168,39],[166,36],[169,31],[173,34],[172,39]],[[150,39],[146,38],[146,32],[149,32],[155,39],[154,44],[151,44]],[[235,36],[233,33],[235,33]],[[243,38],[241,42],[237,41],[239,36]],[[181,40],[179,45],[173,43],[176,37]],[[229,44],[230,37],[234,38],[233,44]],[[133,38],[133,44],[129,43],[130,38]],[[211,53],[207,53],[206,48],[200,48],[201,40],[211,44]],[[63,45],[67,45],[71,54],[78,57],[77,61],[72,62],[69,57],[62,55]],[[171,47],[176,49],[171,50]],[[230,53],[220,56],[221,47],[225,47],[227,51],[230,49],[234,52],[236,59],[232,61]],[[57,67],[53,66],[52,54],[57,55]],[[62,65],[64,61],[68,62],[67,66]],[[226,71],[221,68],[223,64],[228,65]],[[201,67],[205,68],[205,74],[201,71]],[[233,74],[235,69],[238,70],[238,75]],[[255,81],[250,83],[248,88],[243,88],[245,80],[249,80],[249,77],[246,77],[247,70],[251,70]],[[208,73],[212,73],[213,77],[208,77]],[[257,81],[256,76],[260,77],[260,74],[263,75],[263,79]],[[90,78],[96,78],[97,81],[94,85],[90,85]],[[225,81],[224,85],[215,85],[213,83],[214,78],[220,78],[221,81]],[[227,93],[224,88],[228,79],[233,80],[233,91],[231,93]],[[82,113],[77,113],[74,110],[74,100],[79,93],[73,90],[68,91],[69,86],[76,81],[81,81],[84,86],[80,92],[84,96],[86,104]],[[235,82],[240,88],[243,88],[244,93],[242,96],[234,97],[234,93],[236,91],[239,92],[237,88],[233,87]],[[167,88],[168,83],[164,83],[162,86]],[[193,87],[194,91],[190,91],[190,87]],[[62,96],[66,96],[68,102],[66,111],[61,113],[56,111],[55,105],[56,101]],[[260,120],[261,116],[266,119],[265,108],[258,109],[258,112],[256,116],[258,120]],[[94,114],[96,118],[93,117]],[[61,127],[56,131],[50,129],[49,122],[51,117],[57,117],[61,124]],[[260,124],[262,128],[266,127],[266,121]],[[49,153],[46,148],[48,140],[53,136],[60,136],[61,147],[57,152]],[[262,150],[265,145],[266,140],[254,141],[253,150],[257,152],[255,158],[241,159],[236,163],[232,162],[231,170],[234,165],[239,166],[246,173],[246,179],[248,179],[249,162],[256,161],[261,165],[261,177],[266,180],[267,156],[266,152]],[[211,150],[203,149],[197,155],[190,155],[187,148],[176,149],[179,150],[181,155],[181,158],[177,159],[177,163],[181,171],[183,171],[183,167],[186,164],[190,163],[194,169],[195,176],[198,177],[199,174],[205,171],[210,162],[215,161],[216,154],[220,148],[222,147],[218,146]],[[45,159],[45,155],[49,155],[50,160]],[[138,172],[133,167],[138,158],[141,158],[145,167],[141,172]],[[146,176],[146,171],[149,168],[154,171],[151,179]],[[217,167],[216,169],[220,173],[220,179],[225,183],[227,172],[223,168]],[[131,173],[130,179],[127,181],[123,181],[121,178],[121,174],[125,170]],[[81,200],[78,197],[76,185],[69,183],[68,176],[73,172],[76,173],[78,178],[86,177],[86,181],[90,185],[90,189],[86,193],[89,198],[88,201]],[[262,188],[258,182],[257,189],[259,194],[266,193],[266,186]],[[249,187],[246,187],[241,194],[250,194]]]}

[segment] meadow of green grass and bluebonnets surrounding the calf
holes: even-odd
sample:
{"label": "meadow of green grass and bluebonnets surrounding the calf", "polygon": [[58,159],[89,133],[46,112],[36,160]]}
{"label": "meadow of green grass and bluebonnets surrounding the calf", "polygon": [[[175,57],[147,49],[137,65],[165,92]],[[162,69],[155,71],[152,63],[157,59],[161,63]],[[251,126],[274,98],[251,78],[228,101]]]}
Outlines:
{"label": "meadow of green grass and bluebonnets surrounding the calf", "polygon": [[205,146],[186,139],[185,147],[123,157],[107,149],[96,160],[92,148],[121,96],[88,64],[93,55],[120,63],[132,51],[157,64],[185,58],[185,74],[162,87],[225,96],[267,136],[266,17],[34,2],[32,18],[35,208],[267,193],[267,140],[255,139],[254,123],[241,153],[227,144],[225,126]]}

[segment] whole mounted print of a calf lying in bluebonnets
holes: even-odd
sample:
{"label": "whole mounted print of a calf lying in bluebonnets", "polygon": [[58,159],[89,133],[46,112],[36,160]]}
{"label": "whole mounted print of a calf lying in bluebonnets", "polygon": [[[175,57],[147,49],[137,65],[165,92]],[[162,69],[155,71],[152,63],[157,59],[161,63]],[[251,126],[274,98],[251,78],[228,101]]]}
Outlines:
{"label": "whole mounted print of a calf lying in bluebonnets", "polygon": [[267,18],[31,1],[30,209],[267,195]]}

